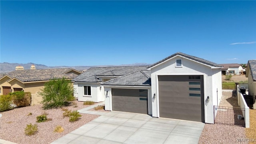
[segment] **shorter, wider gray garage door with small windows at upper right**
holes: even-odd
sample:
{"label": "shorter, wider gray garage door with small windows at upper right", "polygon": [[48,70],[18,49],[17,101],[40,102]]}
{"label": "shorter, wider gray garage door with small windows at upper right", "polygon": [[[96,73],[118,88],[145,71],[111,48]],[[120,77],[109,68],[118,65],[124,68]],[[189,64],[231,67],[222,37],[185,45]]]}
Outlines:
{"label": "shorter, wider gray garage door with small windows at upper right", "polygon": [[112,88],[112,110],[148,114],[148,90]]}

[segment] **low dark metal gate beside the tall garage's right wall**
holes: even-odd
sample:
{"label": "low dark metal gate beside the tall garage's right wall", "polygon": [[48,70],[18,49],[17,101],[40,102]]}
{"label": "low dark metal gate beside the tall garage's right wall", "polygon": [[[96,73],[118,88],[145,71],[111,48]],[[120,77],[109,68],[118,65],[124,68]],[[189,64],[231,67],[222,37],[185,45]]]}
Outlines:
{"label": "low dark metal gate beside the tall garage's right wall", "polygon": [[214,106],[214,124],[245,126],[244,108]]}

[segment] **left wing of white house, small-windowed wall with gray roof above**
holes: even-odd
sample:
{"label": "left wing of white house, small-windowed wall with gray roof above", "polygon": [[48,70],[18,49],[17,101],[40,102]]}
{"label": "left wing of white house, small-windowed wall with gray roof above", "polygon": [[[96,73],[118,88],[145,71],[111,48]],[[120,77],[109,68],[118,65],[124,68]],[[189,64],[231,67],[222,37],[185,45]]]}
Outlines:
{"label": "left wing of white house, small-windowed wall with gray roof above", "polygon": [[89,68],[74,78],[74,96],[78,101],[102,102],[105,100],[104,87],[100,84],[132,72],[146,70],[147,66],[116,66]]}

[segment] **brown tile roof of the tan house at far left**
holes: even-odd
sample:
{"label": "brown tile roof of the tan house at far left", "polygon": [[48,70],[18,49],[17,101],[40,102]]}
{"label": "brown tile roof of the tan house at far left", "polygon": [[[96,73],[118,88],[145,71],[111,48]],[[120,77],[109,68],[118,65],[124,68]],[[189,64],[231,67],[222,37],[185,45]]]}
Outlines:
{"label": "brown tile roof of the tan house at far left", "polygon": [[66,72],[69,72],[70,70],[74,70],[74,69],[54,68],[54,69],[42,69],[42,70],[15,70],[5,74],[4,76],[16,78],[21,82],[51,80],[53,78],[63,78],[63,77],[67,79],[75,78],[77,76],[76,74],[66,73]]}

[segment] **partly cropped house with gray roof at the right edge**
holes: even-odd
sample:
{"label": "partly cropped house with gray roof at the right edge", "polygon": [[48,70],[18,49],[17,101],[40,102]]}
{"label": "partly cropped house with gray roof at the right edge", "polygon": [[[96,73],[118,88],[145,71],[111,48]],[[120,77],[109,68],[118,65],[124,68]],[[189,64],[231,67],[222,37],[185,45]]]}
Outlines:
{"label": "partly cropped house with gray roof at the right edge", "polygon": [[256,60],[248,60],[246,77],[248,78],[248,94],[255,96],[256,95]]}

